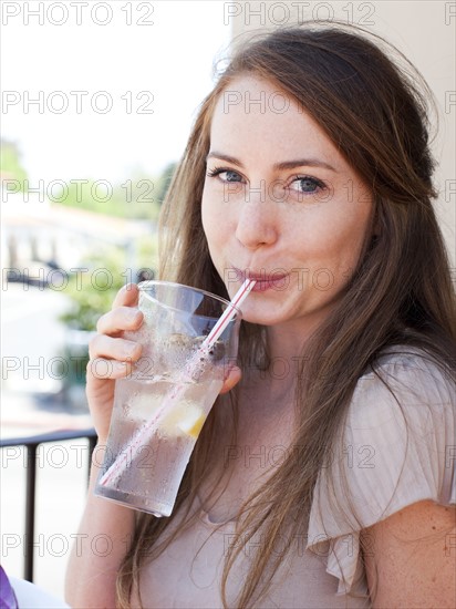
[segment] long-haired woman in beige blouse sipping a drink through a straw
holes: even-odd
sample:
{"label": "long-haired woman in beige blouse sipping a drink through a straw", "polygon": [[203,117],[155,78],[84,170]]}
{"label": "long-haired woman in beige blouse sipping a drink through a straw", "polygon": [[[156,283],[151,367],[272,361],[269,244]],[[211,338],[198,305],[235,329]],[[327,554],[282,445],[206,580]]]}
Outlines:
{"label": "long-haired woman in beige blouse sipping a drink through a straw", "polygon": [[[239,369],[169,519],[90,494],[73,607],[455,605],[455,301],[425,99],[379,44],[278,30],[205,100],[163,210],[160,277],[224,297],[257,279]],[[123,289],[91,344],[112,370],[87,368],[101,446],[114,379],[139,357],[122,339],[136,303]]]}

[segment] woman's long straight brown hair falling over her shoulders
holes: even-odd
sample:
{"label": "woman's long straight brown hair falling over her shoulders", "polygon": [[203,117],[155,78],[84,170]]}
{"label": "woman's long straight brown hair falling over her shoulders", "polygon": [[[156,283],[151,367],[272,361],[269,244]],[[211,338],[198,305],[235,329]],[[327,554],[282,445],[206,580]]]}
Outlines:
{"label": "woman's long straight brown hair falling over her shoulders", "polygon": [[[395,56],[394,63],[387,55]],[[236,600],[240,608],[255,606],[266,593],[280,559],[273,551],[279,536],[283,540],[287,531],[290,545],[293,533],[307,531],[319,471],[357,380],[374,367],[382,350],[387,345],[418,347],[441,365],[456,361],[449,262],[432,205],[436,196],[427,118],[432,95],[397,50],[360,28],[305,23],[261,34],[236,51],[201,105],[164,204],[160,277],[228,296],[209,256],[200,202],[215,104],[234,79],[246,73],[267,79],[302,104],[336,144],[372,192],[376,230],[369,235],[340,303],[300,360],[299,423],[291,442],[300,447],[299,456],[290,453],[241,510],[239,539],[247,544],[261,528],[268,541],[251,560]],[[252,353],[258,365],[268,365],[263,329],[243,323],[241,367],[248,358],[251,365]],[[232,393],[236,422],[236,390]],[[213,409],[187,468],[176,512],[191,505],[208,473],[207,456],[216,427],[217,409]],[[187,515],[190,517],[189,510]],[[145,557],[166,548],[166,543],[158,545],[157,540],[169,520],[138,517],[117,581],[121,607],[128,607],[133,586],[138,589]],[[225,605],[229,570],[242,549],[237,546],[226,560]]]}

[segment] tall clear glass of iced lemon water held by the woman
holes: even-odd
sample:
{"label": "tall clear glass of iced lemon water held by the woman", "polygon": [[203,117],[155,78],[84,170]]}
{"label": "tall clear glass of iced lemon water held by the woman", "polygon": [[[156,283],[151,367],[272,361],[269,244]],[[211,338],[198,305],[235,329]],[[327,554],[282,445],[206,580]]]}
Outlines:
{"label": "tall clear glass of iced lemon water held by the woman", "polygon": [[144,322],[127,339],[143,345],[132,374],[115,383],[95,494],[155,516],[172,514],[199,432],[236,362],[240,312],[201,349],[227,300],[178,283],[144,281]]}

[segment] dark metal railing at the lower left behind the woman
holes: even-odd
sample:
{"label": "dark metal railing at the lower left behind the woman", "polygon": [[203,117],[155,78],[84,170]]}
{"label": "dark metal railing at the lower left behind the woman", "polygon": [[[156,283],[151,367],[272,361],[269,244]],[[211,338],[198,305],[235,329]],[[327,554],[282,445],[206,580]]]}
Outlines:
{"label": "dark metal railing at the lower left behind the woman", "polygon": [[62,442],[65,440],[84,438],[89,440],[87,471],[92,452],[96,444],[95,430],[76,430],[71,432],[51,432],[29,437],[12,437],[0,440],[0,448],[11,446],[24,446],[27,451],[27,482],[25,482],[25,548],[23,577],[28,581],[33,581],[33,545],[34,545],[34,507],[35,507],[35,482],[37,482],[37,450],[40,444],[50,442]]}

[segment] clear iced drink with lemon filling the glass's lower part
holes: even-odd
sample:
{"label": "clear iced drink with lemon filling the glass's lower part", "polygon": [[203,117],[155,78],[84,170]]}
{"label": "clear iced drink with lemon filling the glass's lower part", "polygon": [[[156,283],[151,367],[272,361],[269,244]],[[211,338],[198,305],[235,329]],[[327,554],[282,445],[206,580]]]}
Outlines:
{"label": "clear iced drink with lemon filling the glass's lower part", "polygon": [[[170,515],[195,442],[221,385],[221,380],[214,379],[185,383],[178,399],[146,434],[147,443],[132,446],[132,437],[159,411],[175,383],[118,380],[108,441],[111,458],[103,465],[96,494],[156,516]],[[101,485],[100,479],[120,455],[124,466]]]}

